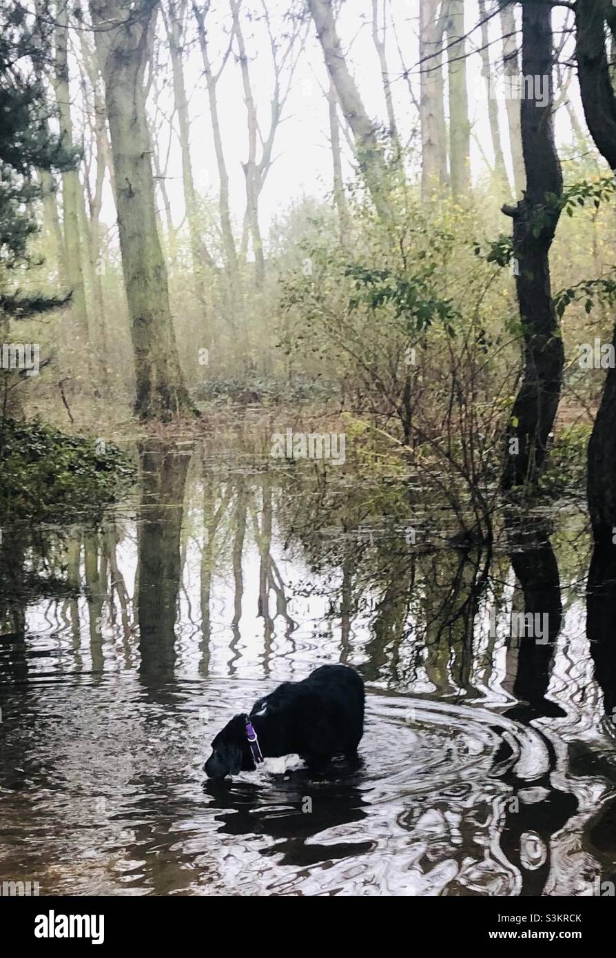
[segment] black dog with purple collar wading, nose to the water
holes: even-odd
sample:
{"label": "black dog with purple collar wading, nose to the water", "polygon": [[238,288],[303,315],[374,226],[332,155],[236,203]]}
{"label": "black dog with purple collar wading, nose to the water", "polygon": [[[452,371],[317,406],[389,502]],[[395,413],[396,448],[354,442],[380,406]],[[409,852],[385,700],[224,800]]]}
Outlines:
{"label": "black dog with purple collar wading, nose to the water", "polygon": [[353,758],[364,729],[364,683],[346,665],[324,665],[303,682],[284,682],[249,716],[231,719],[212,742],[208,778],[252,771],[263,758],[297,754],[319,768]]}

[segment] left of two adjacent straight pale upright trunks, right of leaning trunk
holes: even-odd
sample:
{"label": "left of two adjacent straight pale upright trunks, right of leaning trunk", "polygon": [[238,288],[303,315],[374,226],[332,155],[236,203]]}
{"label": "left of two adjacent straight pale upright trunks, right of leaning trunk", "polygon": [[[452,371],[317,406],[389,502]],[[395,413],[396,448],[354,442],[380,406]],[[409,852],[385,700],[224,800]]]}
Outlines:
{"label": "left of two adjacent straight pale upright trunks, right of leaning trunk", "polygon": [[448,183],[443,82],[445,19],[441,0],[420,2],[420,123],[422,126],[422,197]]}

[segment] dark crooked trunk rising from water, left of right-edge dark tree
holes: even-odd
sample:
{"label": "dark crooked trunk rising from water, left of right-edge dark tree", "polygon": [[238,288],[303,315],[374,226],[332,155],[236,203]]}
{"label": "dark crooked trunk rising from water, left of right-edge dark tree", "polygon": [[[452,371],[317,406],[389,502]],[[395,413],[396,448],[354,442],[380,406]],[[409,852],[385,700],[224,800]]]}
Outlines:
{"label": "dark crooked trunk rising from water, left of right-edge dark tree", "polygon": [[527,190],[513,217],[517,300],[524,340],[524,375],[507,435],[504,489],[536,482],[559,405],[564,351],[550,289],[549,251],[559,221],[562,177],[552,122],[552,25],[547,4],[522,7],[522,73],[548,78],[548,103],[521,101],[521,128]]}

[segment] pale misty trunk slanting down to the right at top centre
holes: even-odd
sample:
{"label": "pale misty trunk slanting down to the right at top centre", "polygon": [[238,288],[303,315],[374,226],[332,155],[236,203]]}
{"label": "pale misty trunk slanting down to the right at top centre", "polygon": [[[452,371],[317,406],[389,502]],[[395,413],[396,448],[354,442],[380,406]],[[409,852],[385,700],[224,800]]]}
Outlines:
{"label": "pale misty trunk slanting down to the right at top centre", "polygon": [[387,201],[387,170],[376,129],[366,113],[336,34],[331,0],[308,0],[308,8],[321,43],[325,65],[342,112],[354,135],[357,162],[381,217],[390,213]]}

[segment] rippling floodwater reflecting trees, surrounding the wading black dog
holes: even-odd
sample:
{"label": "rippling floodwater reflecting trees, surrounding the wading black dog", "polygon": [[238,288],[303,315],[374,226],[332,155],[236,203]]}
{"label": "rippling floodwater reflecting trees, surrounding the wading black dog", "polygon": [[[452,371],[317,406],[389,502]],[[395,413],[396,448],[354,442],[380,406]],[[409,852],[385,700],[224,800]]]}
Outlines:
{"label": "rippling floodwater reflecting trees, surrounding the wading black dog", "polygon": [[[613,895],[616,563],[582,512],[463,551],[396,484],[216,445],[150,443],[102,521],[2,538],[0,880]],[[221,725],[328,662],[366,681],[357,766],[206,781]]]}

